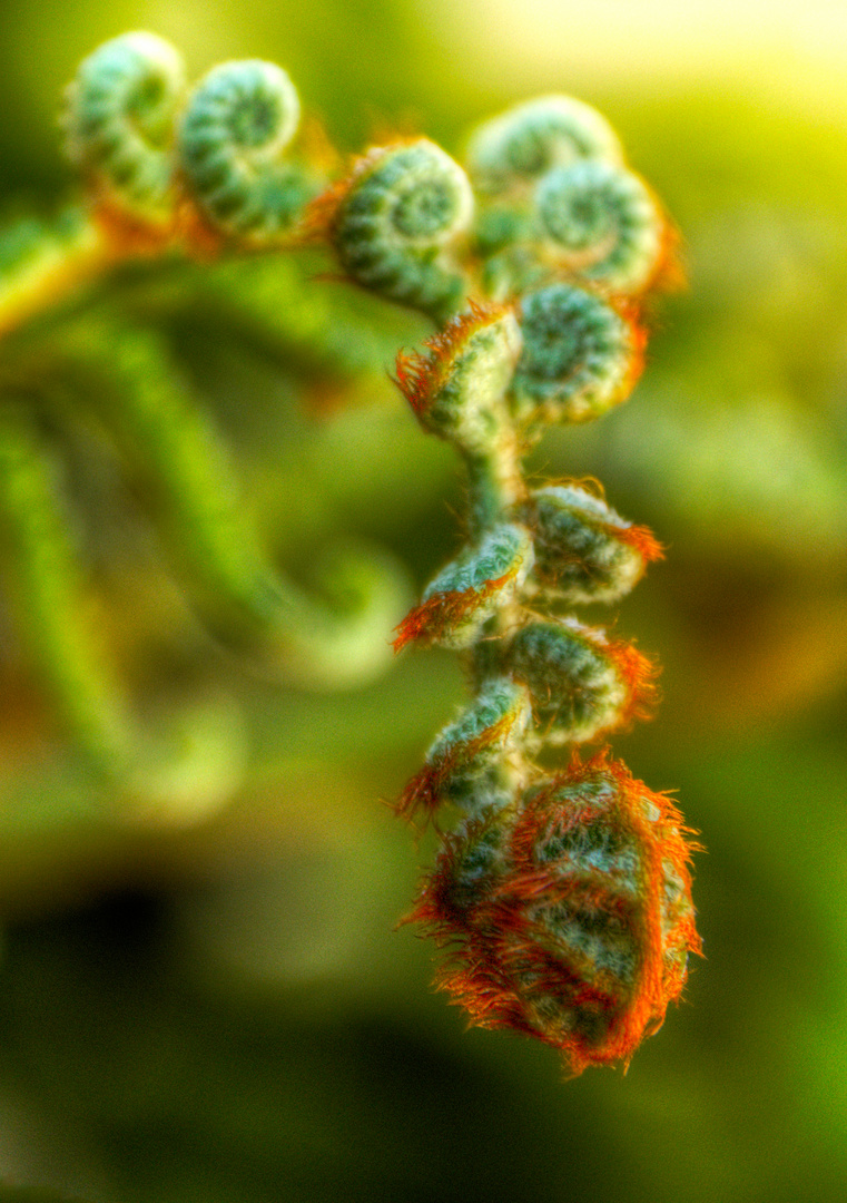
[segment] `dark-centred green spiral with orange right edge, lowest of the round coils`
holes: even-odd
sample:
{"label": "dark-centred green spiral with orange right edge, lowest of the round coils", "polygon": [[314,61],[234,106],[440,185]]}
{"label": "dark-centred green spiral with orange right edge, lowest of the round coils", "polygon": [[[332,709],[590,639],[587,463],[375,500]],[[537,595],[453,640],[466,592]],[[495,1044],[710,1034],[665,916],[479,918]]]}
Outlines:
{"label": "dark-centred green spiral with orange right edge, lowest of the round coils", "polygon": [[524,349],[512,380],[518,417],[583,422],[622,401],[640,367],[638,331],[585,289],[557,282],[520,303]]}

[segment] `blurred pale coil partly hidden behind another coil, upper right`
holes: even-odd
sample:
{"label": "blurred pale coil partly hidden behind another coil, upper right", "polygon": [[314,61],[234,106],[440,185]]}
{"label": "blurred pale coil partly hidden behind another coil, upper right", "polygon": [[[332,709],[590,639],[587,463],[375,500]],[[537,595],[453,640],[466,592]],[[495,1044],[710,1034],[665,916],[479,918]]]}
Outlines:
{"label": "blurred pale coil partly hidden behind another coil, upper right", "polygon": [[488,195],[578,159],[620,162],[621,147],[606,118],[572,96],[538,96],[517,105],[481,125],[467,148],[473,185]]}

